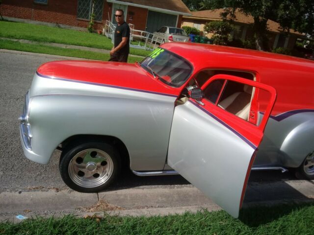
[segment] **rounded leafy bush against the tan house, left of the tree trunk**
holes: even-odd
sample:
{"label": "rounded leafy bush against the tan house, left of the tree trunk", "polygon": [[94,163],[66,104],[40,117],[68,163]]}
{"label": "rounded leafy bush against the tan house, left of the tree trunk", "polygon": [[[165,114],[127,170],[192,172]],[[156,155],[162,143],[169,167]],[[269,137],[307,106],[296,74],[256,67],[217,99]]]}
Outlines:
{"label": "rounded leafy bush against the tan house, left of the tree trunk", "polygon": [[211,21],[205,24],[204,30],[213,33],[211,39],[216,45],[227,45],[232,41],[231,32],[235,27],[226,21]]}

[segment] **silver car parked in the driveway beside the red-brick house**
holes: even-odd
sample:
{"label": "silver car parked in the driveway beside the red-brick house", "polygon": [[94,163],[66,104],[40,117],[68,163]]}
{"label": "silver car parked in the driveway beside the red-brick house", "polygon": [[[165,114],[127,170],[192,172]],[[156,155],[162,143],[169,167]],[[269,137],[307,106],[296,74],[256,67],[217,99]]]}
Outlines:
{"label": "silver car parked in the driveway beside the red-brick house", "polygon": [[[169,42],[191,42],[189,36],[187,36],[182,28],[162,26],[154,32],[154,35],[157,35],[157,37],[154,38],[153,36],[153,41],[157,41],[160,44]],[[163,40],[161,40],[161,38]]]}

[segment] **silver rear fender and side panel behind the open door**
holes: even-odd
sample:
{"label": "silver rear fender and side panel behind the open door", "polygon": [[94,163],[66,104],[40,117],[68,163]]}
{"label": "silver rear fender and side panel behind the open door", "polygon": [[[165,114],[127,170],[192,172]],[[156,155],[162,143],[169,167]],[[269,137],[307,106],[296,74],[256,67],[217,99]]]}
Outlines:
{"label": "silver rear fender and side panel behind the open door", "polygon": [[[260,118],[262,119],[262,114]],[[314,150],[314,111],[294,110],[268,119],[254,167],[298,167]]]}

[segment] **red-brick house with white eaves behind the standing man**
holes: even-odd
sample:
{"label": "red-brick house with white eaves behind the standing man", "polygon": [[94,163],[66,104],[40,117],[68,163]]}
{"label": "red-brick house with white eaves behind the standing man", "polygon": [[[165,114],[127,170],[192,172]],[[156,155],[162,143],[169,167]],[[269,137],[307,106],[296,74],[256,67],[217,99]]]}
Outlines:
{"label": "red-brick house with white eaves behind the standing man", "polygon": [[[2,0],[1,15],[9,20],[46,22],[86,29],[93,0]],[[191,15],[182,0],[96,0],[95,26],[101,30],[106,20],[115,22],[114,11],[125,11],[125,21],[134,29],[154,32],[162,25],[178,26]]]}

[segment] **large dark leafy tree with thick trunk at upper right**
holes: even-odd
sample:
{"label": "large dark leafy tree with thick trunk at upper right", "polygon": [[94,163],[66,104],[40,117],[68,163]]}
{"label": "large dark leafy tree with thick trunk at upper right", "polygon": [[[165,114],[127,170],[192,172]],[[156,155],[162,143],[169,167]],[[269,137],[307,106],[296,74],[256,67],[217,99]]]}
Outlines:
{"label": "large dark leafy tree with thick trunk at upper right", "polygon": [[[301,4],[300,4],[301,2]],[[273,20],[281,24],[283,29],[293,28],[301,32],[313,32],[314,2],[313,0],[209,0],[204,2],[205,8],[225,8],[224,17],[234,19],[235,10],[254,19],[256,47],[269,50],[267,42],[267,21]]]}

